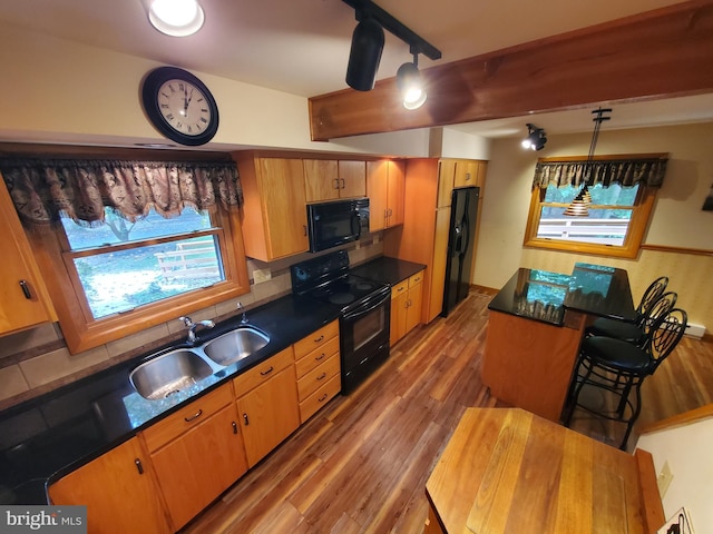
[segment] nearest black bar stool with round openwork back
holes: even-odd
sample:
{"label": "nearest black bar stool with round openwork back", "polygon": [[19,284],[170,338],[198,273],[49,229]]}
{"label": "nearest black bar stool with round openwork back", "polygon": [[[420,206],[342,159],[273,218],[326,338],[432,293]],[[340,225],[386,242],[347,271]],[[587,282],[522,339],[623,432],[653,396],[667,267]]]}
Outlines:
{"label": "nearest black bar stool with round openwork back", "polygon": [[[626,442],[641,413],[642,384],[676,347],[687,320],[683,309],[668,310],[652,325],[641,345],[606,336],[585,337],[569,385],[565,426],[570,425],[577,407],[597,417],[625,423],[626,432],[619,448],[626,449]],[[585,386],[609,392],[616,408],[587,406],[580,398]]]}

